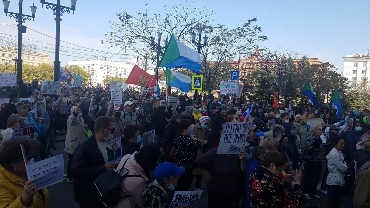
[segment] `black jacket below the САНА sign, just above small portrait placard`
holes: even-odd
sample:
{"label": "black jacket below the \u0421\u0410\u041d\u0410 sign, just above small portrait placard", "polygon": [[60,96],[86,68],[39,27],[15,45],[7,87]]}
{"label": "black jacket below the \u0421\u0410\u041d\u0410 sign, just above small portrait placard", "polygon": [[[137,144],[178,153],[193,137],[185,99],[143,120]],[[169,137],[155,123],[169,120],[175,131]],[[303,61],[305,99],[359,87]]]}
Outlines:
{"label": "black jacket below the \u0421\u0410\u041d\u0410 sign, just above small portrait placard", "polygon": [[155,134],[163,135],[164,128],[167,125],[166,118],[172,117],[172,110],[168,108],[168,112],[165,112],[162,107],[154,108],[150,117],[152,118],[152,127],[155,130]]}

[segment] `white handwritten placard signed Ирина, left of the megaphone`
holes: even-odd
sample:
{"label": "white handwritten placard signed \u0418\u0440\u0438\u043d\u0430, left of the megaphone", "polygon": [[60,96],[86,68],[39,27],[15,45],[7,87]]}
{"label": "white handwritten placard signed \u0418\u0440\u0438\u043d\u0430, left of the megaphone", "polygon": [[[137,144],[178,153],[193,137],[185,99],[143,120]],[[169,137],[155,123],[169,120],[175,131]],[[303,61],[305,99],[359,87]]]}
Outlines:
{"label": "white handwritten placard signed \u0418\u0440\u0438\u043d\u0430, left of the megaphone", "polygon": [[239,154],[244,150],[250,122],[228,122],[222,129],[217,154]]}

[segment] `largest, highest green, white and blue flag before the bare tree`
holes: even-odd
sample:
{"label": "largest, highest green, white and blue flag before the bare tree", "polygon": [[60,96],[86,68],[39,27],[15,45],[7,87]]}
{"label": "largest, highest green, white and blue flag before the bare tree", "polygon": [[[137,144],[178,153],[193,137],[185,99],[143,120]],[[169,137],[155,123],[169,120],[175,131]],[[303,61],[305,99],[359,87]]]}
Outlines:
{"label": "largest, highest green, white and blue flag before the bare tree", "polygon": [[162,56],[160,67],[188,68],[194,72],[201,70],[201,54],[182,44],[172,34]]}

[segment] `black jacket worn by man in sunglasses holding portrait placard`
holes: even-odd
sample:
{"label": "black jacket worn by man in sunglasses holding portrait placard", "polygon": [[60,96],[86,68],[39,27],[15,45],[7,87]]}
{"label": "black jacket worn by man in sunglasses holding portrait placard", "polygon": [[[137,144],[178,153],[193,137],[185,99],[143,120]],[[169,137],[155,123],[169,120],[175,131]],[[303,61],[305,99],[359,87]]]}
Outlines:
{"label": "black jacket worn by man in sunglasses holding portrait placard", "polygon": [[73,154],[71,175],[74,179],[75,202],[92,208],[104,207],[94,185],[94,180],[107,171],[104,164],[94,133],[82,141]]}

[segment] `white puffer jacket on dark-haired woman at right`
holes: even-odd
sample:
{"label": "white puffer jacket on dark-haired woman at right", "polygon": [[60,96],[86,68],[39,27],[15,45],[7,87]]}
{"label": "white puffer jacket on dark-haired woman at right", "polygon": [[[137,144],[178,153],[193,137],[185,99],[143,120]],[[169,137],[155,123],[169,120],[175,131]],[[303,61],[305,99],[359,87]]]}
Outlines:
{"label": "white puffer jacket on dark-haired woman at right", "polygon": [[344,185],[344,172],[347,171],[347,164],[341,151],[335,147],[326,155],[327,169],[330,171],[327,175],[327,185]]}

